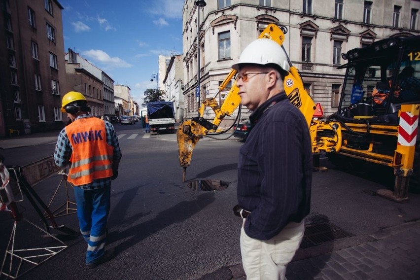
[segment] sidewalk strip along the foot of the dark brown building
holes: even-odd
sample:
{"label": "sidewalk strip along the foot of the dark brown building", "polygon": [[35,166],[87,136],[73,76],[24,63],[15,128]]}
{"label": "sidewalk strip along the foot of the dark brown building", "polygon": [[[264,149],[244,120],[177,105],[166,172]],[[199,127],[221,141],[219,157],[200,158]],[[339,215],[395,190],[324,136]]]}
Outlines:
{"label": "sidewalk strip along the foot of the dark brown building", "polygon": [[56,143],[59,133],[60,131],[51,131],[22,135],[11,138],[3,138],[0,139],[0,148],[11,149],[25,146],[34,146],[39,144]]}

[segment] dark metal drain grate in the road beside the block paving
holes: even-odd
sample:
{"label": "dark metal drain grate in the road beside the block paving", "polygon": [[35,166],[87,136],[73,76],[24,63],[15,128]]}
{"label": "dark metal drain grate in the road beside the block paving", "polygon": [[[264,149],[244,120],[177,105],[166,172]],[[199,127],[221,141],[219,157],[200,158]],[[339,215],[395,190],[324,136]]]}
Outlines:
{"label": "dark metal drain grate in the road beside the block paving", "polygon": [[349,237],[342,229],[328,222],[305,226],[301,248],[309,248],[324,242]]}

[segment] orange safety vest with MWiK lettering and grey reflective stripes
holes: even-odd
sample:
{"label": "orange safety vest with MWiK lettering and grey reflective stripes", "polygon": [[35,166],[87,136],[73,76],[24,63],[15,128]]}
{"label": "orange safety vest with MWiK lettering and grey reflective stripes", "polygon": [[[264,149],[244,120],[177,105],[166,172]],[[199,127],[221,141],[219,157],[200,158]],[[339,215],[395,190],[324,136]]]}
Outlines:
{"label": "orange safety vest with MWiK lettering and grey reflective stripes", "polygon": [[95,117],[81,118],[66,126],[73,152],[68,181],[75,186],[113,175],[114,147],[106,142],[105,122]]}

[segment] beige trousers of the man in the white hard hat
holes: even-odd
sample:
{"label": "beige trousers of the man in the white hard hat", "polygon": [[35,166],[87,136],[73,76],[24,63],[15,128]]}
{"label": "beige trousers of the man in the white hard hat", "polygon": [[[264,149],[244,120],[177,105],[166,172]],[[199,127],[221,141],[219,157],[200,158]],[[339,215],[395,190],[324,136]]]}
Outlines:
{"label": "beige trousers of the man in the white hard hat", "polygon": [[241,255],[246,280],[285,280],[286,265],[302,242],[304,222],[290,222],[270,240],[258,240],[241,230]]}

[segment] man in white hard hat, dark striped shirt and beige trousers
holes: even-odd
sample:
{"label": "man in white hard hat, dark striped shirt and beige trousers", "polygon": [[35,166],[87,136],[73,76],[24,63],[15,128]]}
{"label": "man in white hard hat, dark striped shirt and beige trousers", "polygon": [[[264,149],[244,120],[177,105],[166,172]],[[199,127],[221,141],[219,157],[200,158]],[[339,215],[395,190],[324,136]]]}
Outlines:
{"label": "man in white hard hat, dark striped shirt and beige trousers", "polygon": [[287,55],[271,39],[251,42],[232,66],[251,131],[238,161],[241,254],[247,280],[285,279],[310,211],[312,152],[307,122],[290,103]]}

